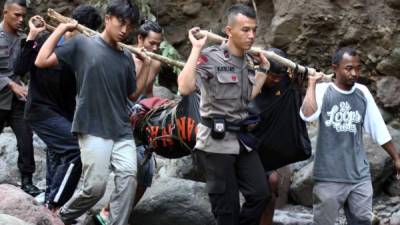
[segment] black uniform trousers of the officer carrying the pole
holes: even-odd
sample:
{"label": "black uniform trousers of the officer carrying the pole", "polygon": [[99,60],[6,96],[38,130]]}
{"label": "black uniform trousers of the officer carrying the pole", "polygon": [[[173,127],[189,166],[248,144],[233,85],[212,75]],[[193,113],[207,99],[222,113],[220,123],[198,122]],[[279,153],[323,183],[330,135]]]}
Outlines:
{"label": "black uniform trousers of the officer carrying the pole", "polygon": [[[204,170],[212,212],[218,225],[259,225],[270,200],[269,186],[258,153],[239,155],[195,150],[195,161]],[[245,202],[240,208],[239,191]]]}

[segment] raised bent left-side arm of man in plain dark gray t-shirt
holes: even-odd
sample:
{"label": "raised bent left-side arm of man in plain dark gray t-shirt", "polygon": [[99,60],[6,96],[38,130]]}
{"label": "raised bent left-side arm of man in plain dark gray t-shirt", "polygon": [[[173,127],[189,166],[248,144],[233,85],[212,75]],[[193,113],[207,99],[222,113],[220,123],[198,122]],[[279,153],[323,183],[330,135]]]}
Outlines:
{"label": "raised bent left-side arm of man in plain dark gray t-shirt", "polygon": [[39,68],[48,68],[58,64],[58,59],[54,53],[54,49],[57,46],[58,41],[64,35],[65,32],[74,30],[77,26],[77,22],[72,23],[61,23],[56,30],[49,36],[46,42],[40,49],[38,56],[36,57],[35,65]]}

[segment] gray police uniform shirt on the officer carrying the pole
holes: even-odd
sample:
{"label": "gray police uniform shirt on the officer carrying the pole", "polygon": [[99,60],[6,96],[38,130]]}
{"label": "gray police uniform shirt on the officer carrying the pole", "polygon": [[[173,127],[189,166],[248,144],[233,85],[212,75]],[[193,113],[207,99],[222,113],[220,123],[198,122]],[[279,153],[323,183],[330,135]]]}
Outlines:
{"label": "gray police uniform shirt on the officer carrying the pole", "polygon": [[[248,116],[248,103],[255,84],[253,59],[249,55],[229,54],[227,45],[202,51],[196,67],[196,85],[200,89],[200,116],[222,115],[231,123]],[[239,154],[236,134],[226,132],[223,139],[211,137],[211,129],[199,123],[196,149],[222,154]]]}

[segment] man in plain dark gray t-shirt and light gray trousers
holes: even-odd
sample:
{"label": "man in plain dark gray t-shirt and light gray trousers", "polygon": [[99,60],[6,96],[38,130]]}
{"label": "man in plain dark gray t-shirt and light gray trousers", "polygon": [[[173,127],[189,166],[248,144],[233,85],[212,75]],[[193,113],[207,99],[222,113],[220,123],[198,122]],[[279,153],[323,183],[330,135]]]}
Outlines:
{"label": "man in plain dark gray t-shirt and light gray trousers", "polygon": [[135,79],[133,58],[119,47],[133,26],[139,11],[126,2],[108,5],[104,31],[94,37],[77,36],[61,47],[61,36],[74,30],[76,22],[61,24],[41,48],[36,65],[50,67],[65,63],[76,74],[77,102],[72,132],[81,149],[83,187],[61,208],[65,224],[94,206],[103,196],[109,173],[115,174],[110,200],[110,224],[125,225],[133,203],[137,181],[136,147],[127,112],[127,98],[135,101],[142,93],[149,59]]}

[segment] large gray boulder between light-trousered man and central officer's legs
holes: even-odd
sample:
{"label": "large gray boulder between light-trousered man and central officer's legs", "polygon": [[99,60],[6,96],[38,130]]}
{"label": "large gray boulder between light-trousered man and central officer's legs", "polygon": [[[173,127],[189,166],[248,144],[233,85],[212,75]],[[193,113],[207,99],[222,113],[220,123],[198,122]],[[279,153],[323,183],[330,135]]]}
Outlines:
{"label": "large gray boulder between light-trousered man and central officer's legs", "polygon": [[214,225],[205,184],[177,178],[157,179],[131,215],[132,225]]}

